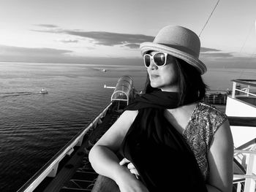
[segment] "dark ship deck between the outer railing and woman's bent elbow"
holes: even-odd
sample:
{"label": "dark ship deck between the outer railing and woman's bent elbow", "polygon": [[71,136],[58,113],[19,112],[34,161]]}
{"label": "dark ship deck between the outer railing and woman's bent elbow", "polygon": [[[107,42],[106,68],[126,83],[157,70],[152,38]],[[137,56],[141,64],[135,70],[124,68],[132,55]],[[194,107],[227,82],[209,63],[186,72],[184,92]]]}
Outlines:
{"label": "dark ship deck between the outer railing and woman's bent elbow", "polygon": [[98,174],[94,172],[89,162],[89,150],[121,115],[121,111],[117,110],[120,107],[120,102],[114,101],[112,109],[107,112],[102,123],[89,131],[82,145],[75,149],[75,153],[72,153],[72,158],[65,164],[59,165],[60,170],[56,177],[48,177],[34,191],[91,191]]}

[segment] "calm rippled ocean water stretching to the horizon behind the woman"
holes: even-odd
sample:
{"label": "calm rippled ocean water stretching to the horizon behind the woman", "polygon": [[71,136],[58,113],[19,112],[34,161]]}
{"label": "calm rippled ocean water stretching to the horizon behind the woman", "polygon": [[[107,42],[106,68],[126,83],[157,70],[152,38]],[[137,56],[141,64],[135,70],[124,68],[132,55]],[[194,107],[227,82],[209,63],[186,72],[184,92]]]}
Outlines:
{"label": "calm rippled ocean water stretching to the horizon behind the woman", "polygon": [[[115,86],[125,74],[143,89],[143,66],[0,63],[0,191],[26,183],[109,104],[113,90],[103,86]],[[208,69],[203,75],[212,90],[255,77],[255,69]],[[48,94],[39,93],[42,88]]]}

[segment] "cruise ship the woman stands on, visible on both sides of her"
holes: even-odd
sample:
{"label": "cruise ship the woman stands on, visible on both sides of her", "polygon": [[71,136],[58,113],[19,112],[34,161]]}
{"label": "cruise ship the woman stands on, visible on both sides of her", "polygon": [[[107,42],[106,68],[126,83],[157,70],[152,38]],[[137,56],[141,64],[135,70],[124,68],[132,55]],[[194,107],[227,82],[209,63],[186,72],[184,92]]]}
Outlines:
{"label": "cruise ship the woman stands on, visible on both sides of her", "polygon": [[[227,96],[225,113],[230,121],[234,139],[233,191],[237,192],[255,192],[256,93],[252,92],[253,88],[256,88],[255,82],[256,80],[233,80],[232,94],[224,93]],[[244,85],[246,89],[242,86],[238,87],[236,83]],[[113,91],[110,104],[34,174],[18,192],[91,191],[98,174],[94,172],[89,162],[89,150],[136,96],[140,94],[136,93],[133,87],[132,77],[121,77]]]}

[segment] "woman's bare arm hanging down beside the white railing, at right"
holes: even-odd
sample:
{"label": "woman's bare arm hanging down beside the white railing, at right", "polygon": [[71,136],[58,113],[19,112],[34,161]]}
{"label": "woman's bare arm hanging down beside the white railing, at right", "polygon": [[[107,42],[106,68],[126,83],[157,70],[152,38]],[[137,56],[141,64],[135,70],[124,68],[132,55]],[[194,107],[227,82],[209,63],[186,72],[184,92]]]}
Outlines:
{"label": "woman's bare arm hanging down beside the white railing, at right", "polygon": [[218,128],[208,152],[208,192],[230,192],[233,186],[233,137],[226,120]]}

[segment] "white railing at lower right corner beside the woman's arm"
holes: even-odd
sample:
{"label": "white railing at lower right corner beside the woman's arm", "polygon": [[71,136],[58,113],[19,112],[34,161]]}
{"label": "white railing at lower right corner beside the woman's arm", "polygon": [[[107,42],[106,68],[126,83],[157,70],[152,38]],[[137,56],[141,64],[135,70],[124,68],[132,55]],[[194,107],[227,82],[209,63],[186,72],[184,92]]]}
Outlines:
{"label": "white railing at lower right corner beside the woman's arm", "polygon": [[234,158],[246,169],[245,174],[233,174],[233,184],[237,185],[237,192],[255,192],[256,189],[256,144],[252,142],[255,142],[255,139],[248,142],[247,147],[241,146],[234,150]]}

